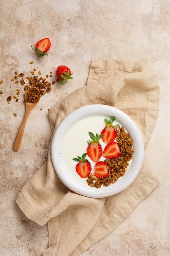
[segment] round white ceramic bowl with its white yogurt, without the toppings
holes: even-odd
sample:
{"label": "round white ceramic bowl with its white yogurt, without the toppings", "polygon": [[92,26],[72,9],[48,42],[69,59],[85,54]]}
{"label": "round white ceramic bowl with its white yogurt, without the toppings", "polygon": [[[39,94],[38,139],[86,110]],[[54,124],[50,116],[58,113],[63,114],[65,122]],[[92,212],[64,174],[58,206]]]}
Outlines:
{"label": "round white ceramic bowl with its white yogurt, without the toppings", "polygon": [[[116,117],[114,124],[119,123],[130,133],[135,151],[123,177],[114,184],[96,189],[77,174],[77,162],[73,158],[86,153],[88,132],[99,135],[105,126],[104,118],[110,117]],[[71,112],[57,127],[51,143],[51,159],[58,177],[69,189],[87,197],[103,198],[123,191],[135,180],[144,161],[144,143],[137,125],[126,113],[107,105],[88,105]]]}

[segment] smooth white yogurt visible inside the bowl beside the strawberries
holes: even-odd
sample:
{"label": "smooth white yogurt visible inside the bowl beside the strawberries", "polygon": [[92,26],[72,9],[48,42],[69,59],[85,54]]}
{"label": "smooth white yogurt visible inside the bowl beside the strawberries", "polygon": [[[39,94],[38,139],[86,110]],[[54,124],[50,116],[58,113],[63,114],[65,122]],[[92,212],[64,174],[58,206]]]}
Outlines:
{"label": "smooth white yogurt visible inside the bowl beside the strawberries", "polygon": [[[78,162],[75,162],[73,158],[77,158],[77,156],[82,157],[82,154],[86,153],[88,147],[88,140],[91,138],[88,135],[88,132],[93,132],[94,135],[96,133],[100,135],[106,123],[104,119],[110,119],[111,117],[106,117],[102,115],[88,116],[83,119],[77,121],[71,128],[66,132],[64,137],[64,142],[62,145],[62,156],[64,159],[64,163],[69,172],[80,182],[86,183],[86,178],[81,178],[76,170],[75,166]],[[113,125],[119,124],[116,120],[113,121]],[[119,124],[120,125],[120,124]],[[106,144],[100,139],[100,144],[102,149],[104,150]],[[95,163],[86,155],[86,159],[91,163],[92,173],[95,166]],[[101,157],[99,161],[104,161],[104,157]]]}

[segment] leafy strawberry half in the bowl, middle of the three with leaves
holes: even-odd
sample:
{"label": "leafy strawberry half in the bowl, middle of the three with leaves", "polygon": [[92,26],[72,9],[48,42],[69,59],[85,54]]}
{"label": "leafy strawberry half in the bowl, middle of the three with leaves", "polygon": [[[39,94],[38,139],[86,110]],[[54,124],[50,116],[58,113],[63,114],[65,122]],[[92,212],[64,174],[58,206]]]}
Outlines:
{"label": "leafy strawberry half in the bowl, middle of the three with leaves", "polygon": [[96,136],[92,132],[88,132],[92,141],[88,140],[87,155],[92,159],[93,162],[98,162],[102,156],[102,146],[99,144],[99,140],[103,135]]}

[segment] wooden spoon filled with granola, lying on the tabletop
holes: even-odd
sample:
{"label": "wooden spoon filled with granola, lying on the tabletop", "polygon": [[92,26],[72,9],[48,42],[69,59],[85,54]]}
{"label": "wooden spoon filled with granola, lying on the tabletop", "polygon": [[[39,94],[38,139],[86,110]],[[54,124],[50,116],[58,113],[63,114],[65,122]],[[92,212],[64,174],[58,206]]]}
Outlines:
{"label": "wooden spoon filled with granola, lying on the tabletop", "polygon": [[[36,101],[35,102],[31,102],[30,101],[30,98],[33,96],[33,94],[36,97]],[[35,88],[35,87],[30,87],[25,92],[25,106],[26,106],[26,110],[25,110],[24,119],[22,121],[22,125],[20,127],[18,135],[17,135],[17,137],[16,137],[16,139],[14,141],[14,144],[13,144],[13,150],[15,150],[15,151],[18,151],[20,149],[20,145],[21,145],[22,136],[23,136],[23,133],[24,133],[24,128],[25,128],[26,120],[27,120],[31,110],[35,107],[35,105],[37,105],[38,101],[40,100],[40,97],[41,97],[40,91],[37,88]]]}

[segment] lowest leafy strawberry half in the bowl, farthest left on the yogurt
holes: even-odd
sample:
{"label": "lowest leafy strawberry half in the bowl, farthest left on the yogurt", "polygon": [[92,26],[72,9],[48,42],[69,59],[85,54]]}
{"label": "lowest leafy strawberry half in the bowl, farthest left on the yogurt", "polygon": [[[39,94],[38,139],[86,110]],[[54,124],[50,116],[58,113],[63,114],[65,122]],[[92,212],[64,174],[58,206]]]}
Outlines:
{"label": "lowest leafy strawberry half in the bowl, farthest left on the yogurt", "polygon": [[78,175],[82,178],[86,178],[91,173],[91,164],[85,158],[86,153],[82,155],[82,157],[77,156],[77,158],[73,158],[74,161],[79,162],[75,166],[75,170]]}

